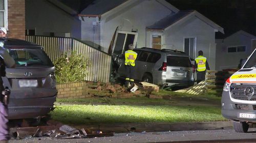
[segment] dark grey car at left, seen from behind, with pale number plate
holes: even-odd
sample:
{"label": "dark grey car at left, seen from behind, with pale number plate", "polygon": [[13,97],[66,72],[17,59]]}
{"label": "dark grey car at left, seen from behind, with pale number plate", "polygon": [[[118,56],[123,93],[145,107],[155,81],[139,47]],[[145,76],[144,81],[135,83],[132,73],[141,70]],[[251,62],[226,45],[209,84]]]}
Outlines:
{"label": "dark grey car at left, seen from behind, with pale number plate", "polygon": [[4,87],[11,90],[9,119],[40,118],[47,115],[56,100],[54,65],[43,47],[18,39],[0,39],[15,61],[6,68]]}

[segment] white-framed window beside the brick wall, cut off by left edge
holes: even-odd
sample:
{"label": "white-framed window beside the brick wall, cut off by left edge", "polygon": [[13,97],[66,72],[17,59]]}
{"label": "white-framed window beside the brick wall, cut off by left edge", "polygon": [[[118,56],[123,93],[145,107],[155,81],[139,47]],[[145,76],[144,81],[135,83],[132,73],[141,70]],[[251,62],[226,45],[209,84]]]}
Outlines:
{"label": "white-framed window beside the brick wall, cut off by left edge", "polygon": [[7,27],[7,0],[0,0],[0,27]]}

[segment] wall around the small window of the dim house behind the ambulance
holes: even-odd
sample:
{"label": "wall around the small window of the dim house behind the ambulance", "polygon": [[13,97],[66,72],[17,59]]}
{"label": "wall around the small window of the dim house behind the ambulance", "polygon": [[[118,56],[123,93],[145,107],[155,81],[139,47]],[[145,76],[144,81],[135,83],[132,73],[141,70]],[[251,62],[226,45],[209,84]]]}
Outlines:
{"label": "wall around the small window of the dim house behind the ambulance", "polygon": [[[251,51],[251,37],[244,34],[234,34],[224,40],[218,40],[216,48],[216,69],[237,69],[240,59],[247,58]],[[231,46],[246,46],[245,52],[228,53]]]}

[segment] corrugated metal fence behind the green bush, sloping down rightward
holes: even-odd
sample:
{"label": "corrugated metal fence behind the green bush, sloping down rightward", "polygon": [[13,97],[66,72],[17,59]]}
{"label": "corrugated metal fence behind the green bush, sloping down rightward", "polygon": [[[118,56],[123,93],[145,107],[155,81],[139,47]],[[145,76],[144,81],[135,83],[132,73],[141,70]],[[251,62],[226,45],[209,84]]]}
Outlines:
{"label": "corrugated metal fence behind the green bush, sloping down rightward", "polygon": [[65,52],[77,51],[87,56],[91,66],[86,80],[109,82],[111,72],[111,56],[73,38],[26,36],[26,40],[44,46],[45,52],[52,61],[63,57]]}

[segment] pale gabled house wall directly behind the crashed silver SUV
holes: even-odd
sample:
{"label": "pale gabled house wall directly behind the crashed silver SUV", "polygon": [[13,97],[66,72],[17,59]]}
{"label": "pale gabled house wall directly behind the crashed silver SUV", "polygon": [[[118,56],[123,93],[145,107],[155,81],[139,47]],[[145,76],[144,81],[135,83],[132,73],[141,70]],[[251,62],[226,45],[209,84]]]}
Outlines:
{"label": "pale gabled house wall directly behind the crashed silver SUV", "polygon": [[[150,45],[151,34],[147,32],[147,45]],[[210,69],[215,70],[215,32],[214,28],[196,17],[191,17],[167,30],[162,34],[162,48],[184,51],[184,38],[196,38],[196,55],[202,50],[207,58]]]}

